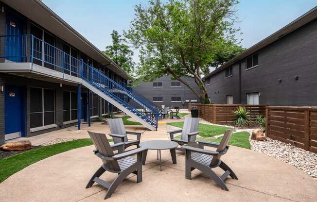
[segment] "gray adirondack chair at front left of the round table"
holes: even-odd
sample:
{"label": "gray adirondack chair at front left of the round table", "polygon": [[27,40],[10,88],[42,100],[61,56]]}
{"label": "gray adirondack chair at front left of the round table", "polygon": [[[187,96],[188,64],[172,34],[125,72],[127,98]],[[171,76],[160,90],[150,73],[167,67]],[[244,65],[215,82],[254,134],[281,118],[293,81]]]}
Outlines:
{"label": "gray adirondack chair at front left of the round table", "polygon": [[[96,147],[94,153],[101,158],[103,164],[90,178],[86,188],[91,187],[94,183],[106,187],[108,191],[105,199],[107,199],[129,174],[137,174],[137,183],[142,181],[141,152],[145,151],[146,148],[137,148],[128,152],[114,154],[114,150],[124,151],[123,142],[110,146],[105,134],[90,131],[88,131],[88,134]],[[137,154],[137,158],[131,157],[134,154]],[[117,178],[112,183],[99,178],[106,171],[118,173]]]}

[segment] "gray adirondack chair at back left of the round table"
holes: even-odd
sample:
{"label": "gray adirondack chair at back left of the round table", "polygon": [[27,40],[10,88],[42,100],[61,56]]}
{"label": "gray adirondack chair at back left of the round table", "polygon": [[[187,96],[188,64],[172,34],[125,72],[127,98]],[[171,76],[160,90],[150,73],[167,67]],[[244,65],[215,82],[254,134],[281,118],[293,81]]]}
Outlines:
{"label": "gray adirondack chair at back left of the round table", "polygon": [[[109,135],[115,144],[124,142],[124,149],[132,145],[136,145],[139,148],[142,133],[125,131],[122,118],[109,118],[108,123],[111,132]],[[137,139],[128,140],[126,134],[137,135]]]}

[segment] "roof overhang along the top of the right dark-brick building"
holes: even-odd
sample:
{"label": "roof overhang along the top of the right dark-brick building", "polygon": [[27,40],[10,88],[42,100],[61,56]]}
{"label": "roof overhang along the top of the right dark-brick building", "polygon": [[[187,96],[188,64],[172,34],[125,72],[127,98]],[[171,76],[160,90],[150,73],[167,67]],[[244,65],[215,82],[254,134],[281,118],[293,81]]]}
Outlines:
{"label": "roof overhang along the top of the right dark-brick building", "polygon": [[317,18],[317,6],[305,13],[304,15],[300,16],[299,18],[295,19],[279,31],[275,32],[274,34],[269,35],[268,37],[264,38],[262,41],[258,42],[257,44],[251,46],[247,50],[243,51],[241,54],[235,56],[233,59],[226,62],[224,65],[216,68],[209,74],[203,77],[203,79],[210,77],[211,75],[222,71],[226,67],[229,67],[237,62],[240,62],[242,59],[246,58],[252,53],[255,53],[256,51],[264,48],[265,46],[268,46],[269,44],[273,43],[274,41],[277,41],[278,39],[282,38],[283,36],[290,34],[294,30],[297,30],[299,27],[307,24],[308,22],[314,20]]}

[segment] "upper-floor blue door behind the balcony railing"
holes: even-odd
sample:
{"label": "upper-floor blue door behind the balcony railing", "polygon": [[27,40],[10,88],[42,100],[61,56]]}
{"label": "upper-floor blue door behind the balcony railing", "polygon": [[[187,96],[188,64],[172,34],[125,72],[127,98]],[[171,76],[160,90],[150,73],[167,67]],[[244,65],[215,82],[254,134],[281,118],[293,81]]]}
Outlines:
{"label": "upper-floor blue door behind the balcony railing", "polygon": [[13,62],[23,62],[22,23],[18,17],[8,12],[6,15],[5,57]]}

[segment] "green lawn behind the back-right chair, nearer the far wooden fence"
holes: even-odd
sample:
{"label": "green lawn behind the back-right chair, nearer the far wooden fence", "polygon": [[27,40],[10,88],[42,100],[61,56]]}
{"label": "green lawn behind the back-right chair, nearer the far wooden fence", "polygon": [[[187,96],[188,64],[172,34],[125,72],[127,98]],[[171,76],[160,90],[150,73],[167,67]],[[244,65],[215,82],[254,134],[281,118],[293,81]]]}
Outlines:
{"label": "green lawn behind the back-right chair, nearer the far wooden fence", "polygon": [[[184,122],[175,122],[175,123],[167,123],[168,125],[176,126],[179,128],[183,128]],[[214,126],[208,124],[199,123],[198,131],[199,136],[201,137],[212,137],[215,135],[224,134],[226,130],[230,129],[225,126]]]}

